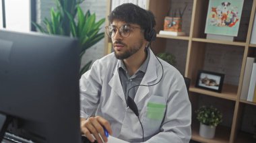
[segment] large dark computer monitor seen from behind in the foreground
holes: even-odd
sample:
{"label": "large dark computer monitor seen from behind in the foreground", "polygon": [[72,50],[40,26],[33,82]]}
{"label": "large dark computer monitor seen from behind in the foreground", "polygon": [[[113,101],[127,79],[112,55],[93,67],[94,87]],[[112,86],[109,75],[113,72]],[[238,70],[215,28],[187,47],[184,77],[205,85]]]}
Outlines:
{"label": "large dark computer monitor seen from behind in the foreground", "polygon": [[0,131],[32,142],[81,141],[77,40],[0,30]]}

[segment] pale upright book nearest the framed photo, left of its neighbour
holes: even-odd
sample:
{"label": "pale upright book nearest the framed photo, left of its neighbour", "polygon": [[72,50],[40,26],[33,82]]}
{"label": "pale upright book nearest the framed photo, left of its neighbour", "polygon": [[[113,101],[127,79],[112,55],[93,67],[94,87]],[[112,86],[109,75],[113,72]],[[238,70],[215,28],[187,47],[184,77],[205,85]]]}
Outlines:
{"label": "pale upright book nearest the framed photo, left of its neighbour", "polygon": [[255,58],[253,57],[247,57],[247,60],[246,60],[243,85],[242,85],[241,96],[240,96],[240,99],[243,99],[243,100],[247,100],[254,60]]}

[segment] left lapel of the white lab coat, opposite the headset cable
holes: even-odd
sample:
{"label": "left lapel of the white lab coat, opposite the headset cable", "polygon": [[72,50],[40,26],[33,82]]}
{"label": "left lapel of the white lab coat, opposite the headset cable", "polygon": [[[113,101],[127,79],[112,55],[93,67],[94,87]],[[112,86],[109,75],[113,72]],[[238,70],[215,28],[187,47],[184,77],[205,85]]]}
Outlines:
{"label": "left lapel of the white lab coat, opposite the headset cable", "polygon": [[123,87],[121,85],[121,81],[119,79],[119,73],[117,69],[119,62],[120,61],[117,62],[117,66],[115,67],[115,70],[114,70],[114,75],[112,79],[110,79],[108,85],[110,85],[111,90],[113,90],[117,95],[119,95],[119,97],[126,103],[125,94],[123,93]]}

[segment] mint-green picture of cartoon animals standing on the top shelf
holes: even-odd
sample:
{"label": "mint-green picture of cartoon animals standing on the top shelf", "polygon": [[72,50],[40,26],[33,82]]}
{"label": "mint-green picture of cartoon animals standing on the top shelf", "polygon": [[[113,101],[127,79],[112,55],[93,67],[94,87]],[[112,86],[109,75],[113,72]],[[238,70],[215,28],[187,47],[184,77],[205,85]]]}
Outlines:
{"label": "mint-green picture of cartoon animals standing on the top shelf", "polygon": [[[243,3],[243,0],[228,0],[225,2],[222,0],[210,0],[207,11],[205,34],[237,36]],[[216,37],[218,38],[218,36],[212,38]]]}

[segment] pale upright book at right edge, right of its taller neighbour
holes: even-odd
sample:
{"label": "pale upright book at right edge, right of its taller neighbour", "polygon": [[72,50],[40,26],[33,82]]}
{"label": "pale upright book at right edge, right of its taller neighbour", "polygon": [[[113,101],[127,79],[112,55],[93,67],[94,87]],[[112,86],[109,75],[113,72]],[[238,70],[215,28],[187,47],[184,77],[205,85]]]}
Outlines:
{"label": "pale upright book at right edge, right of its taller neighbour", "polygon": [[253,63],[253,70],[251,71],[251,80],[249,85],[247,101],[253,101],[254,89],[256,85],[256,62]]}

